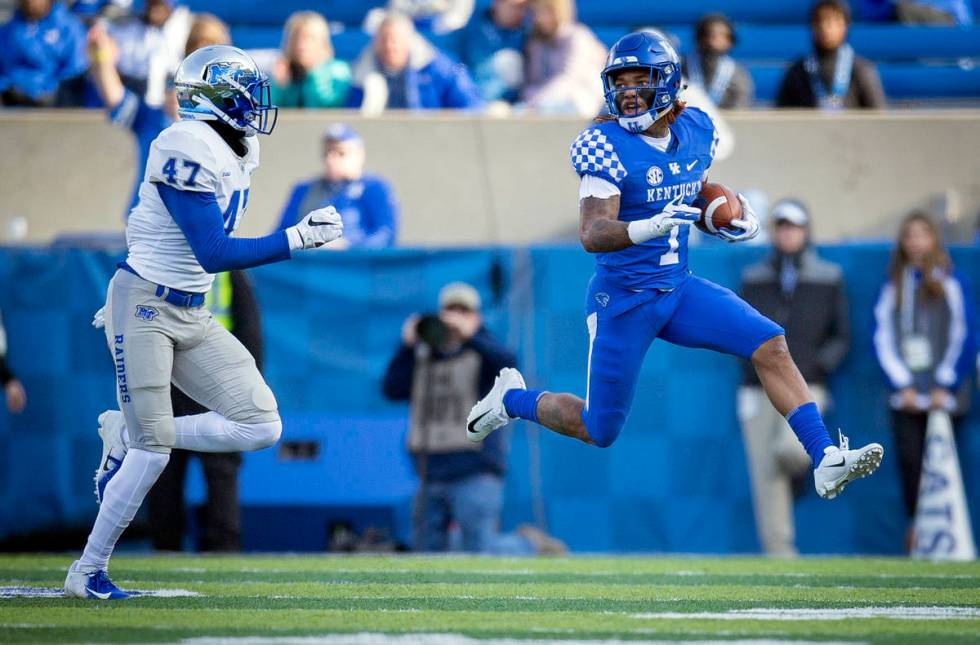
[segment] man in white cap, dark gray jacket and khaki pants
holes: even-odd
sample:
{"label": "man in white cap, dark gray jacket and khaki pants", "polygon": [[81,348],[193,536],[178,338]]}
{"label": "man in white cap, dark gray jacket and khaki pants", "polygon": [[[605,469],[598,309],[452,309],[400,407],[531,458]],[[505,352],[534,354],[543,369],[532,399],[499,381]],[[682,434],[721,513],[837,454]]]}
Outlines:
{"label": "man in white cap, dark gray jacket and khaki pants", "polygon": [[[782,325],[790,353],[824,413],[827,376],[847,353],[850,328],[841,269],[810,248],[810,217],[795,200],[771,212],[773,252],[742,274],[741,295],[762,315]],[[792,430],[766,400],[751,365],[738,393],[738,417],[752,479],[759,542],[766,555],[797,554],[793,528],[794,480],[808,472],[810,458]]]}

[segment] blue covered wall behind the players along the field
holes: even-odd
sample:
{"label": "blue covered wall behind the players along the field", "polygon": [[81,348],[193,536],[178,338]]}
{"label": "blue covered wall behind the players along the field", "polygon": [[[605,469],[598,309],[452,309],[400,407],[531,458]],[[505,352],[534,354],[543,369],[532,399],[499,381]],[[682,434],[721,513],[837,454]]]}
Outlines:
{"label": "blue covered wall behind the players along the field", "polygon": [[[853,342],[831,382],[832,428],[879,441],[875,477],[833,502],[808,492],[797,505],[804,553],[901,551],[905,530],[886,390],[871,349],[871,308],[889,249],[822,248],[848,278]],[[692,249],[693,270],[736,287],[763,249]],[[955,249],[980,284],[980,250]],[[0,413],[0,539],[84,528],[94,517],[95,419],[114,405],[102,333],[90,326],[117,254],[0,250],[0,309],[8,358],[29,394],[20,416]],[[398,250],[307,254],[252,271],[264,324],[266,377],[285,430],[278,448],[246,455],[243,544],[323,550],[332,522],[410,534],[415,487],[404,453],[402,405],[380,378],[404,318],[436,306],[439,287],[466,280],[483,294],[487,324],[518,350],[531,385],[581,393],[592,261],[574,247]],[[627,427],[600,450],[517,424],[511,435],[504,526],[535,518],[576,551],[752,553],[759,545],[735,418],[735,359],[655,343]],[[978,407],[978,406],[975,406]],[[980,415],[971,413],[960,458],[980,535]],[[189,495],[200,500],[200,477]],[[79,544],[79,546],[81,546]]]}

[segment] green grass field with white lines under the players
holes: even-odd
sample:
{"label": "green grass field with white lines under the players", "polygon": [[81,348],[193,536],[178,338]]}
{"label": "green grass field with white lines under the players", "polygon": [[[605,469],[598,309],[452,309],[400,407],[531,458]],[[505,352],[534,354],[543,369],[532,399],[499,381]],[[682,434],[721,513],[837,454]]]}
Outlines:
{"label": "green grass field with white lines under the players", "polygon": [[70,559],[0,556],[0,640],[980,642],[977,563],[120,556],[117,584],[165,595],[113,603],[53,597]]}

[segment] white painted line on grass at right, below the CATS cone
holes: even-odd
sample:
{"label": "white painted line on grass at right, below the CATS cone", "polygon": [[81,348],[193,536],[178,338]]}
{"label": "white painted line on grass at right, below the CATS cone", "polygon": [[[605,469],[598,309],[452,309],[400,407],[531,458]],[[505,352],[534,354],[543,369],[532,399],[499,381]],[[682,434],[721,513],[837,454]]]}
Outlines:
{"label": "white painted line on grass at right, below the CATS cone", "polygon": [[656,612],[631,614],[631,618],[708,620],[847,620],[850,618],[898,618],[902,620],[950,620],[980,618],[977,607],[842,607],[840,609],[731,609],[724,612]]}

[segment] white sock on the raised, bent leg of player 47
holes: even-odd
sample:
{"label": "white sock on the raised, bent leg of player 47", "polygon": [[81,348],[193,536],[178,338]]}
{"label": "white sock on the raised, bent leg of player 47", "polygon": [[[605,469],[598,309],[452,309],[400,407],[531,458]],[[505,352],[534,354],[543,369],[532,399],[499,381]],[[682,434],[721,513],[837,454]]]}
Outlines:
{"label": "white sock on the raised, bent leg of player 47", "polygon": [[282,422],[239,423],[217,412],[174,419],[177,437],[174,448],[197,452],[240,452],[261,450],[279,440]]}

